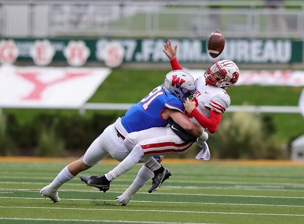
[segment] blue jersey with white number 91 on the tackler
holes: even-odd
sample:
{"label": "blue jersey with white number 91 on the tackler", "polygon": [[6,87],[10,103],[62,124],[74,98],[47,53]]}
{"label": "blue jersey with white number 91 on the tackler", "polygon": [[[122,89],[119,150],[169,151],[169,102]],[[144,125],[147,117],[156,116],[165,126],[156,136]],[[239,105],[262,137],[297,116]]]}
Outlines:
{"label": "blue jersey with white number 91 on the tackler", "polygon": [[131,106],[122,117],[121,123],[128,133],[151,127],[164,127],[168,122],[162,118],[161,113],[167,108],[184,112],[183,103],[160,85],[144,99]]}

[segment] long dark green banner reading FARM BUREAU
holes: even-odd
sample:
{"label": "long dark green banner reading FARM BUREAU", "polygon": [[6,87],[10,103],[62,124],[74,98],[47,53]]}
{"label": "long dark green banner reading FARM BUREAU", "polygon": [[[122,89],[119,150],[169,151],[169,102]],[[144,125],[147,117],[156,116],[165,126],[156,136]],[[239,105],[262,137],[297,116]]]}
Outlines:
{"label": "long dark green banner reading FARM BUREAU", "polygon": [[[30,61],[35,65],[65,62],[83,66],[86,62],[104,62],[118,67],[128,62],[168,62],[162,51],[167,39],[0,39],[0,63]],[[206,40],[172,39],[178,44],[181,63],[215,61],[206,49]],[[288,39],[226,39],[222,54],[236,63],[304,63],[303,41]]]}

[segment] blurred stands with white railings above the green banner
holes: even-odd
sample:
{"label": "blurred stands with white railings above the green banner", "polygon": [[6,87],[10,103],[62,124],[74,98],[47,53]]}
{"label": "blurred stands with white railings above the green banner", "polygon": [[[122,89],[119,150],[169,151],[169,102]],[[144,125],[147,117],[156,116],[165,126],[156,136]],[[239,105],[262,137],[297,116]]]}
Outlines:
{"label": "blurred stands with white railings above the green banner", "polygon": [[[303,0],[285,0],[274,7],[265,2],[0,0],[0,36],[206,38],[217,27],[227,38],[304,39]],[[176,24],[166,26],[164,18]]]}

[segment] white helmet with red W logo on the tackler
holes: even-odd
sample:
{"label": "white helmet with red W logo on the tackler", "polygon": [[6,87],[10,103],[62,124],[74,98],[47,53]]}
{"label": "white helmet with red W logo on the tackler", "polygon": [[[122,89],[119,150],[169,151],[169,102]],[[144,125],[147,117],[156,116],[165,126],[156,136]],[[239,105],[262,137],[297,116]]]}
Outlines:
{"label": "white helmet with red W logo on the tackler", "polygon": [[164,89],[184,102],[195,91],[194,79],[184,70],[174,70],[166,75]]}

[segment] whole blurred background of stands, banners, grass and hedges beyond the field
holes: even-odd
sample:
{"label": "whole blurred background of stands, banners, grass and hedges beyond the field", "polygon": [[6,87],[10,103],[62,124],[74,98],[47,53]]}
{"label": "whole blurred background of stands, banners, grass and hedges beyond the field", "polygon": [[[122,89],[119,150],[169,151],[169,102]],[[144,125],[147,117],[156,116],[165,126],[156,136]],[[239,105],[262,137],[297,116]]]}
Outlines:
{"label": "whole blurred background of stands, banners, grass and hedges beyond the field", "polygon": [[82,155],[163,82],[169,39],[193,74],[241,70],[211,159],[304,161],[303,0],[0,0],[0,155]]}

